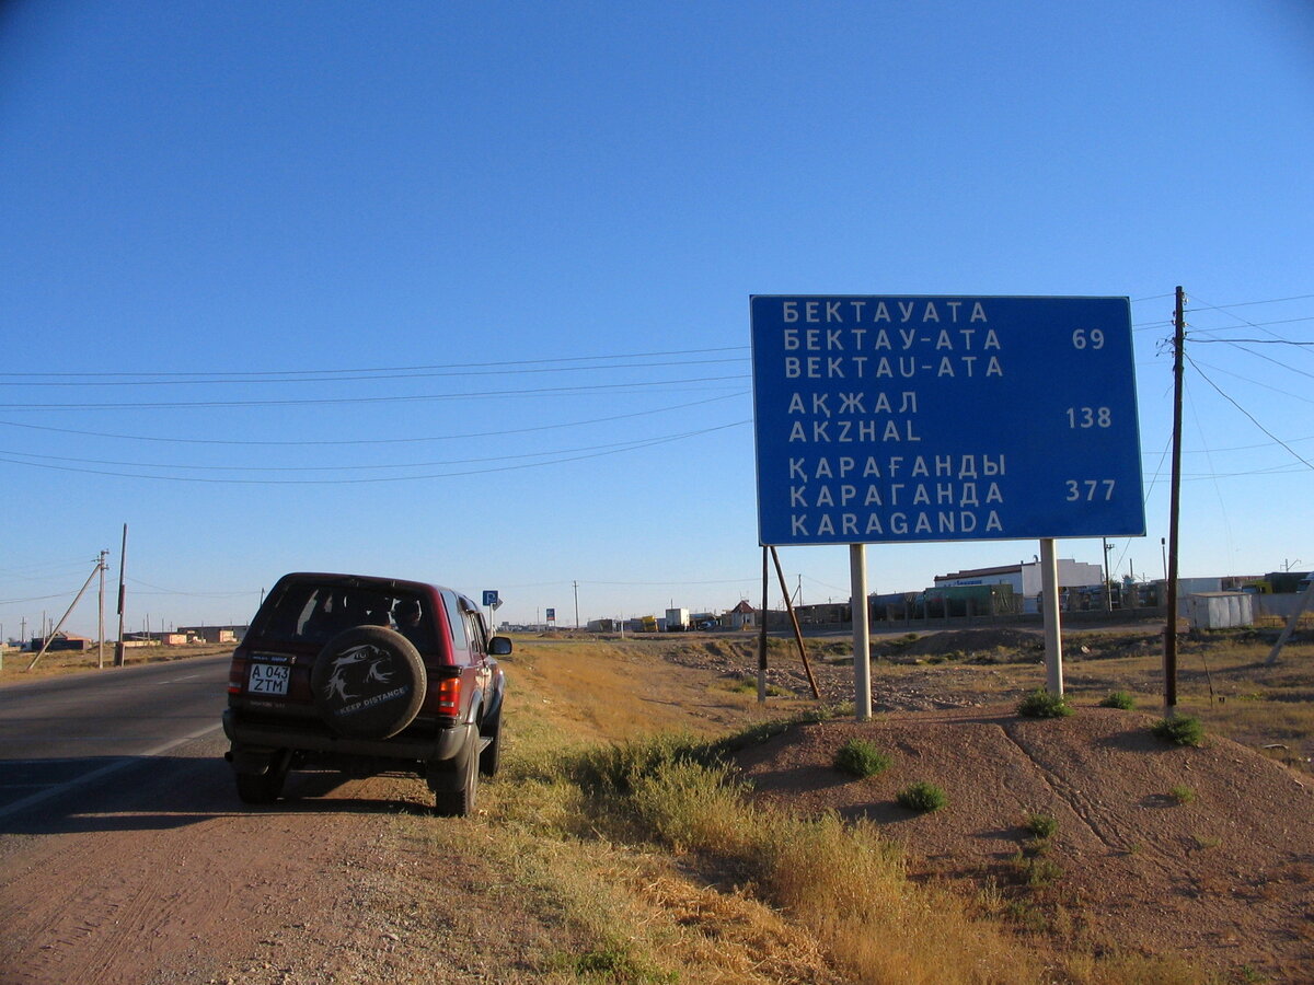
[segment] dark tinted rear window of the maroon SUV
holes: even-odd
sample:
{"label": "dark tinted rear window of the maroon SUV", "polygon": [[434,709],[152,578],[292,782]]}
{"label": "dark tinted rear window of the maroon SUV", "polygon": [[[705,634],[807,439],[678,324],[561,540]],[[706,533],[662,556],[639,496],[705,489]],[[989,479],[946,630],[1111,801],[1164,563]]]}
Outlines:
{"label": "dark tinted rear window of the maroon SUV", "polygon": [[434,613],[422,595],[378,586],[293,583],[271,596],[256,624],[260,640],[326,644],[363,625],[394,629],[420,653],[434,650]]}

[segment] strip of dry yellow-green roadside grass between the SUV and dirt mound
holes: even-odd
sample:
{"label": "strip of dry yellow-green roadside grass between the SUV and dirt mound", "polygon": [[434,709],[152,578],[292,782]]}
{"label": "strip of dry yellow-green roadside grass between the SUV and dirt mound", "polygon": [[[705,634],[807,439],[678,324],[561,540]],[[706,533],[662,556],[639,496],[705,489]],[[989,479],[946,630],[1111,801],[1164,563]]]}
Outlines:
{"label": "strip of dry yellow-green roadside grass between the SUV and dirt mound", "polygon": [[566,952],[540,955],[533,980],[1202,980],[1089,942],[1051,953],[988,894],[911,881],[871,825],[749,805],[715,739],[763,717],[724,676],[673,674],[643,642],[520,644],[507,666],[507,775],[465,823],[509,881],[560,909]]}

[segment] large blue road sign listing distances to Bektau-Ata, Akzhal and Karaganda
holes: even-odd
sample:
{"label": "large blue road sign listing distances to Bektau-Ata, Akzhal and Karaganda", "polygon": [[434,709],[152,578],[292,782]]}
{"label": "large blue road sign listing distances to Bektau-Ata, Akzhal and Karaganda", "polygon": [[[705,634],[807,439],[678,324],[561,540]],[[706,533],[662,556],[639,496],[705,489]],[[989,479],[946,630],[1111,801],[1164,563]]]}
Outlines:
{"label": "large blue road sign listing distances to Bektau-Ata, Akzhal and Karaganda", "polygon": [[1126,298],[749,306],[762,544],[1144,533]]}

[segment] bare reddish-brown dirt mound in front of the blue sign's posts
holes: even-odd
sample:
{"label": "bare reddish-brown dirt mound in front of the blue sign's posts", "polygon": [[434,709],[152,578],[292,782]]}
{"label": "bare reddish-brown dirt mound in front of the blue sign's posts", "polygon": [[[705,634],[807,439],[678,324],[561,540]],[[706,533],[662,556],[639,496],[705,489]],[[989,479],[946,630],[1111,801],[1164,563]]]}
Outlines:
{"label": "bare reddish-brown dirt mound in front of the blue sign's posts", "polygon": [[[1151,721],[1112,709],[1060,721],[892,713],[795,726],[738,762],[762,804],[870,818],[918,876],[996,886],[1024,926],[1309,981],[1314,791],[1226,739],[1166,745]],[[851,738],[891,754],[891,768],[867,779],[833,768]],[[899,806],[896,792],[921,780],[949,806]],[[1028,844],[1029,813],[1058,822],[1047,844]]]}

